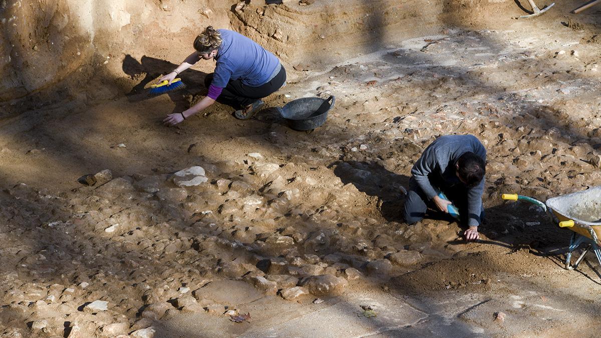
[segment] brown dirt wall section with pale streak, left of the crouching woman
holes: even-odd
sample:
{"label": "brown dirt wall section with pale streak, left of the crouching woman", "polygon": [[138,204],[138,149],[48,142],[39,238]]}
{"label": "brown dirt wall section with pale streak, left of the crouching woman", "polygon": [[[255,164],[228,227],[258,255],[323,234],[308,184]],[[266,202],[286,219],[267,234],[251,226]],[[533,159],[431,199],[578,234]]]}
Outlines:
{"label": "brown dirt wall section with pale streak, left of the crouching woman", "polygon": [[183,46],[198,26],[227,27],[228,8],[215,0],[2,0],[0,101],[78,73],[123,76],[124,55]]}

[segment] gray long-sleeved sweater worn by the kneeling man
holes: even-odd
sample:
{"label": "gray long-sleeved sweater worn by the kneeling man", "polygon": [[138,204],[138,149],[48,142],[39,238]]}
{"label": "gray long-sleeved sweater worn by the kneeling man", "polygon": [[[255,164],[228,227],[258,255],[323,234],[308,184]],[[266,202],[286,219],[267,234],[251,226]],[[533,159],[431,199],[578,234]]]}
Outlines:
{"label": "gray long-sleeved sweater worn by the kneeling man", "polygon": [[[430,183],[428,176],[435,175],[447,186],[461,184],[456,175],[455,163],[461,155],[469,151],[486,161],[486,149],[475,136],[445,135],[438,137],[413,164],[411,175],[426,196],[432,199],[438,193]],[[468,189],[468,226],[479,225],[478,219],[474,216],[480,215],[483,193],[484,178],[477,186]]]}

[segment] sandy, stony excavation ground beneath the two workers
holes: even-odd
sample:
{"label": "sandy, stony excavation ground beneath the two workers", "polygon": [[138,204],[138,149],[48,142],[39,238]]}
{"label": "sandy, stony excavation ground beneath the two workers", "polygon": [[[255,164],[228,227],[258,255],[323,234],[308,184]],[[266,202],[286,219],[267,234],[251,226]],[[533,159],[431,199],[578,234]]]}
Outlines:
{"label": "sandy, stony excavation ground beneath the two workers", "polygon": [[[429,10],[442,8],[430,18],[442,25],[388,23],[412,34],[382,32],[385,46],[334,41],[316,53],[337,57],[285,56],[287,86],[250,121],[215,104],[163,127],[202,97],[210,65],[187,72],[185,91],[147,98],[144,86],[185,55],[160,47],[91,68],[44,104],[41,94],[5,101],[0,337],[595,336],[594,256],[564,270],[571,232],[500,199],[601,184],[597,12],[567,14],[573,5],[520,21],[514,2],[441,2]],[[290,19],[319,6],[267,11]],[[270,36],[269,20],[251,25],[251,8],[228,13],[231,25]],[[273,109],[331,95],[328,121],[311,133]],[[488,152],[479,243],[444,217],[400,218],[413,162],[450,133],[474,134]],[[96,184],[78,183],[85,174]],[[379,317],[355,331],[311,324],[319,313],[352,326],[366,293],[382,297]],[[406,309],[395,317],[393,305]],[[230,321],[247,312],[250,323]]]}

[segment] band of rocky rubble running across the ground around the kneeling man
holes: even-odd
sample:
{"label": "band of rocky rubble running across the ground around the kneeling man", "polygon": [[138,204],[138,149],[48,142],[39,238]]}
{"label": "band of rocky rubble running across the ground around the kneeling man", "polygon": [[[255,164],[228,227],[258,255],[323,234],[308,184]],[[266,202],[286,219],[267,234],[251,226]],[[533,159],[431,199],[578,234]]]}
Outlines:
{"label": "band of rocky rubble running across the ground around the kneeling man", "polygon": [[[498,118],[503,123],[457,125],[488,140],[487,187],[495,187],[487,190],[489,198],[507,191],[545,199],[575,184],[601,180],[596,150],[587,144],[570,144],[555,130],[511,128],[511,121]],[[391,124],[380,136],[364,137],[361,144],[369,146],[359,149],[382,153],[373,137],[400,127]],[[397,142],[403,146],[394,157],[416,158],[429,139],[421,145]],[[17,184],[2,195],[1,213],[10,222],[0,238],[14,243],[2,249],[7,257],[2,268],[14,271],[5,277],[11,282],[4,283],[7,305],[1,311],[8,319],[3,324],[59,334],[60,320],[78,318],[69,336],[80,330],[143,336],[151,330],[131,333],[139,318],[160,320],[177,312],[221,315],[224,305],[188,293],[207,280],[244,280],[265,295],[299,300],[308,294],[340,294],[366,275],[388,278],[444,258],[444,249],[420,244],[445,232],[430,228],[433,223],[390,226],[362,213],[341,212],[345,205],[365,204],[371,195],[399,198],[398,190],[387,190],[381,181],[388,177],[394,183],[396,174],[381,168],[394,173],[409,167],[386,158],[369,164],[369,156],[349,149],[336,175],[317,167],[320,181],[302,174],[309,169],[304,164],[270,163],[263,155],[249,154],[248,160],[204,163],[172,175],[112,178],[110,171],[102,171],[94,175],[94,186],[67,193]],[[337,193],[304,195],[316,184]],[[46,284],[19,283],[17,276]],[[105,285],[115,292],[103,292]],[[87,314],[102,319],[91,322]]]}

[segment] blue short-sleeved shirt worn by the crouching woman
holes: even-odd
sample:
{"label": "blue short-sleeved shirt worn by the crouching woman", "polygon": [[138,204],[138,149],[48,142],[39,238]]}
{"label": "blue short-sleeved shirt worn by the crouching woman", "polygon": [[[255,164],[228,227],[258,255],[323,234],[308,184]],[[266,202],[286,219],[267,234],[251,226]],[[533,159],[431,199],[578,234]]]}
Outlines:
{"label": "blue short-sleeved shirt worn by the crouching woman", "polygon": [[240,80],[251,87],[267,83],[279,59],[242,34],[227,29],[217,31],[222,41],[215,56],[217,64],[211,84],[225,88],[230,80]]}

